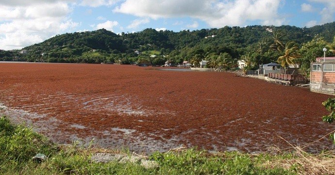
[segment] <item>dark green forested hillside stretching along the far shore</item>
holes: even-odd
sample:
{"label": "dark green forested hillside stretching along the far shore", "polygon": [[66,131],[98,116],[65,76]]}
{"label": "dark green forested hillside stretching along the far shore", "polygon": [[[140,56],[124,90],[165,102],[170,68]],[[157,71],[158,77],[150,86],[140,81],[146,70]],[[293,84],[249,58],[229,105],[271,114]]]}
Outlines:
{"label": "dark green forested hillside stretching along the far shore", "polygon": [[[167,60],[178,64],[184,60],[197,62],[207,59],[212,61],[211,67],[221,64],[229,69],[234,67],[237,59],[241,57],[250,58],[254,66],[277,62],[285,49],[285,44],[291,41],[300,48],[313,38],[321,38],[322,47],[325,47],[333,42],[334,36],[335,22],[311,28],[226,26],[220,29],[180,32],[145,29],[141,32],[119,35],[100,29],[56,35],[41,43],[25,47],[21,51],[0,51],[0,60],[121,64],[145,62],[160,65]],[[273,44],[282,48],[271,49]],[[153,54],[156,57],[151,56]],[[308,62],[310,58],[298,60],[299,63],[303,61]]]}

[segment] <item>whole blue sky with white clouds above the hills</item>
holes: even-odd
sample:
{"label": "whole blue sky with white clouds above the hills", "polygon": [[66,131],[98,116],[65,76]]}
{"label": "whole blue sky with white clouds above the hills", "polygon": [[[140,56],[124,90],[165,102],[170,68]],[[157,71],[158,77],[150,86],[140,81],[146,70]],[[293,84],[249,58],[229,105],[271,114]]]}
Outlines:
{"label": "whole blue sky with white clouds above the hills", "polygon": [[250,25],[313,27],[335,20],[335,0],[0,0],[0,50],[60,34],[147,28],[180,32]]}

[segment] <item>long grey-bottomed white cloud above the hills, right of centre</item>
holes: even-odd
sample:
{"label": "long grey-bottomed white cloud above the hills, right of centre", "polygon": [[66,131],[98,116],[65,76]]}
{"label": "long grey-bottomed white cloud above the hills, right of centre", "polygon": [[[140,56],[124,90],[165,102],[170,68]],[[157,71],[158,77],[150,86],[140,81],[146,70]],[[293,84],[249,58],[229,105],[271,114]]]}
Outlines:
{"label": "long grey-bottomed white cloud above the hills, right of centre", "polygon": [[[249,20],[284,22],[277,10],[282,0],[125,0],[113,12],[143,18],[191,17],[211,27],[243,26]],[[281,20],[279,20],[281,19]]]}

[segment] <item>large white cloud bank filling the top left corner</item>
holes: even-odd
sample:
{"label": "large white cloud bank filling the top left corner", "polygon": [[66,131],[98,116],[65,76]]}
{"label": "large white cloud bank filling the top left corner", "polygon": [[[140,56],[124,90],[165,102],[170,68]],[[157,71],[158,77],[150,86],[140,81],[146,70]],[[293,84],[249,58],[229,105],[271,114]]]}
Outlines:
{"label": "large white cloud bank filling the top left corner", "polygon": [[71,0],[1,1],[0,49],[21,49],[79,26],[67,18],[72,12],[68,2]]}

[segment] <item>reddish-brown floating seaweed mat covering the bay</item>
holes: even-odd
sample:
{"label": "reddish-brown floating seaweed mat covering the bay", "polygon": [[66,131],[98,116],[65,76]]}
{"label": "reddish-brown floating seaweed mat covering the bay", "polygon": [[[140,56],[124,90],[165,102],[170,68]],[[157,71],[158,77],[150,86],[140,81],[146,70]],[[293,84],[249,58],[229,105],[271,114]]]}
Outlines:
{"label": "reddish-brown floating seaweed mat covering the bay", "polygon": [[[2,113],[59,143],[258,152],[288,146],[277,135],[304,145],[335,130],[321,121],[321,103],[334,96],[234,73],[0,63],[0,77]],[[332,148],[327,139],[307,151],[325,148]]]}

